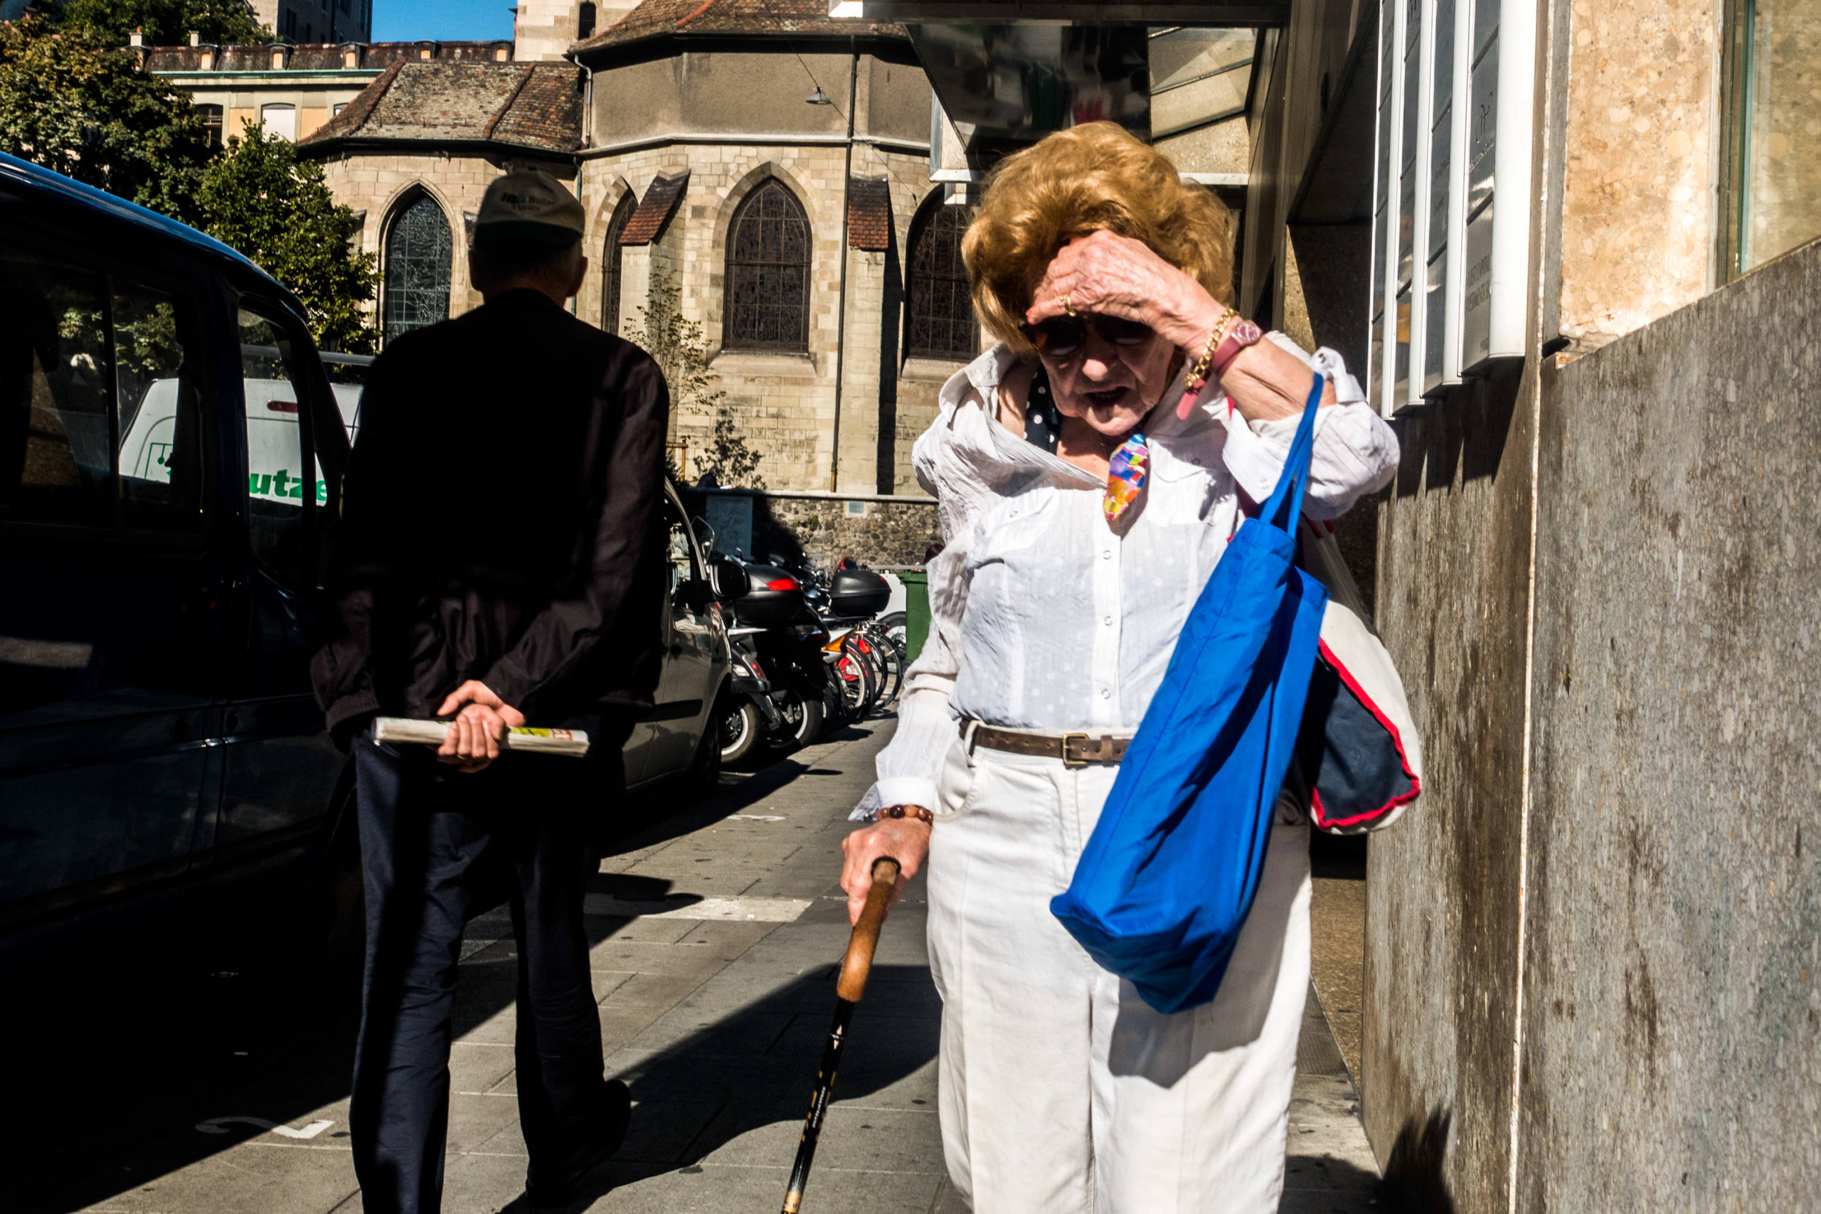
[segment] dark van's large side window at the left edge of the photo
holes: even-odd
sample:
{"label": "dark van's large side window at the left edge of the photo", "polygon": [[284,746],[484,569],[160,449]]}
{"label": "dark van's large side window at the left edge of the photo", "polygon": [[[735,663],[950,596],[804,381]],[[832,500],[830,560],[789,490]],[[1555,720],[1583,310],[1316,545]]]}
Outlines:
{"label": "dark van's large side window at the left edge of the photo", "polygon": [[188,346],[173,295],[0,246],[0,521],[200,530]]}

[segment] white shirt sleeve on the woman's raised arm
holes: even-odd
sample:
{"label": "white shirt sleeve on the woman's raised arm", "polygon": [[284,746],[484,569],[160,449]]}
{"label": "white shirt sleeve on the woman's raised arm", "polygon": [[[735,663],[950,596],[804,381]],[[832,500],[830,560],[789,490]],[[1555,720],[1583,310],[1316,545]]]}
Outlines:
{"label": "white shirt sleeve on the woman's raised arm", "polygon": [[[1282,333],[1267,333],[1266,339],[1302,359],[1335,386],[1335,404],[1315,413],[1315,450],[1309,455],[1302,513],[1318,521],[1338,519],[1353,502],[1389,484],[1397,471],[1397,435],[1366,402],[1358,380],[1333,349],[1324,346],[1309,355]],[[1216,406],[1226,415],[1227,470],[1246,495],[1262,504],[1277,488],[1302,419],[1247,422],[1238,410],[1227,410],[1224,399],[1216,399]]]}

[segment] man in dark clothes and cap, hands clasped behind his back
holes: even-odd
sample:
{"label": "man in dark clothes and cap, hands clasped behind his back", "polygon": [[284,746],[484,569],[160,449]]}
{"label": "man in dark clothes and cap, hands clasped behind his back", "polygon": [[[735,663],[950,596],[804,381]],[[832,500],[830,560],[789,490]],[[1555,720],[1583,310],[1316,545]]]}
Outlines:
{"label": "man in dark clothes and cap, hands clasped behind his back", "polygon": [[[650,357],[563,308],[581,233],[559,182],[495,180],[468,255],[486,302],[388,342],[361,402],[313,677],[355,754],[368,932],[350,1130],[368,1214],[441,1209],[457,957],[483,890],[512,899],[532,1203],[566,1199],[626,1132],[583,892],[657,683],[670,400]],[[381,746],[381,713],[453,724],[435,754]],[[528,719],[588,730],[588,759],[501,755]]]}

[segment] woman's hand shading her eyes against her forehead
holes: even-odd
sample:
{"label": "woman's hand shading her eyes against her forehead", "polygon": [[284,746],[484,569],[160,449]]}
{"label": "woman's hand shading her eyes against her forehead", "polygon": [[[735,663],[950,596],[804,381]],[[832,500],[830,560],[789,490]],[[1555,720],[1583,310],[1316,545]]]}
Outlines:
{"label": "woman's hand shading her eyes against her forehead", "polygon": [[1138,320],[1184,349],[1200,346],[1224,311],[1200,282],[1165,262],[1151,246],[1111,231],[1094,231],[1062,246],[1033,295],[1025,320],[1042,324],[1069,309]]}

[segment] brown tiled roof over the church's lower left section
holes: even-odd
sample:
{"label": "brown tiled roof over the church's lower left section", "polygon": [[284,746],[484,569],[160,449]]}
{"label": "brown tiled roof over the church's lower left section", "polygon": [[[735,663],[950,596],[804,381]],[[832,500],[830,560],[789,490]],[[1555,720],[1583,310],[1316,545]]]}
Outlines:
{"label": "brown tiled roof over the church's lower left section", "polygon": [[297,140],[495,142],[581,147],[581,69],[574,64],[402,60],[348,107]]}

